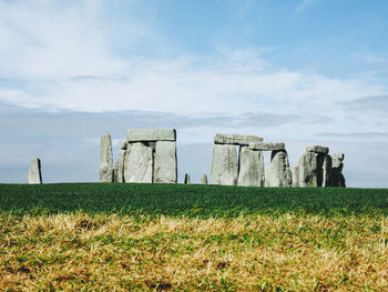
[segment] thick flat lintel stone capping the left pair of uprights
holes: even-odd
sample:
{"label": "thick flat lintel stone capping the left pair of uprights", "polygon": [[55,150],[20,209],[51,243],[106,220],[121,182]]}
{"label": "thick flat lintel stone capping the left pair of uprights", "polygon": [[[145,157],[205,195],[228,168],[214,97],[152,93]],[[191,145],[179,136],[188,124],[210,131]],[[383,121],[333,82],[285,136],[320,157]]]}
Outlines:
{"label": "thick flat lintel stone capping the left pair of uprights", "polygon": [[176,141],[175,129],[129,129],[127,142]]}

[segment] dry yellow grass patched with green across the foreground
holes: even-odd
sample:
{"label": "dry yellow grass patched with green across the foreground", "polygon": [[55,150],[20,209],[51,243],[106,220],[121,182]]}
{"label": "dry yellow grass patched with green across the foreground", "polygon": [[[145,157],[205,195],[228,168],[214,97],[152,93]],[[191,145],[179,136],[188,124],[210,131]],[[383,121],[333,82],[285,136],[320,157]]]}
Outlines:
{"label": "dry yellow grass patched with green across the foreground", "polygon": [[0,290],[387,291],[388,219],[0,215]]}

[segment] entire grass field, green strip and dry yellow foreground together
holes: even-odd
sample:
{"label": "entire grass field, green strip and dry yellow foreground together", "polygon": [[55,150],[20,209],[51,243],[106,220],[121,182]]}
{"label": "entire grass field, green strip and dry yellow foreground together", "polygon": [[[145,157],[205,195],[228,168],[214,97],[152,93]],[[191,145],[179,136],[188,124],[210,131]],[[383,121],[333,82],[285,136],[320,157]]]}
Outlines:
{"label": "entire grass field, green strip and dry yellow foreground together", "polygon": [[0,290],[387,291],[388,190],[0,184]]}

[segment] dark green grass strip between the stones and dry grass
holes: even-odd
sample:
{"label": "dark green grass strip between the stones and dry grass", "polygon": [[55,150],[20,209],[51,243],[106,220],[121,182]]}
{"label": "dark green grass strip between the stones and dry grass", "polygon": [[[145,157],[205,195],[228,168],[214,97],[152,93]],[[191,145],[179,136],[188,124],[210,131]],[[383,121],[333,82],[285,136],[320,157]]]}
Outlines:
{"label": "dark green grass strip between the stones and dry grass", "polygon": [[0,184],[0,212],[238,217],[253,213],[388,214],[388,189],[237,188],[200,184]]}

